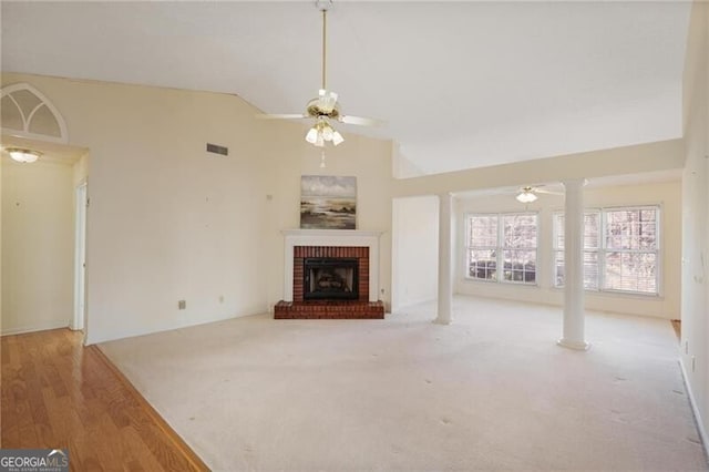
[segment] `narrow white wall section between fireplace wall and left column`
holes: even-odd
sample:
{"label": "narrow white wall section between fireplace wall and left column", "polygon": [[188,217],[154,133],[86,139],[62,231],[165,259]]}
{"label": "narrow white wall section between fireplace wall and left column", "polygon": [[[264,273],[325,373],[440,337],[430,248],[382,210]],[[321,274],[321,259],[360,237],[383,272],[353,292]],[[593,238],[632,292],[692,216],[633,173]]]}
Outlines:
{"label": "narrow white wall section between fireplace wall and left column", "polygon": [[392,311],[438,296],[439,198],[393,199]]}

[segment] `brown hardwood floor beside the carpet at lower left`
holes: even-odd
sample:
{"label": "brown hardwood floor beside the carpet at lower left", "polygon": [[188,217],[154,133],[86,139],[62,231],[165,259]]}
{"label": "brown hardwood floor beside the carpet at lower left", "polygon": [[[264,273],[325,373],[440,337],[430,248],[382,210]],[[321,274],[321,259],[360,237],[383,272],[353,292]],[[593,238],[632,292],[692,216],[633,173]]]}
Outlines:
{"label": "brown hardwood floor beside the carpet at lower left", "polygon": [[208,468],[95,346],[69,329],[0,338],[0,447],[69,449],[72,470]]}

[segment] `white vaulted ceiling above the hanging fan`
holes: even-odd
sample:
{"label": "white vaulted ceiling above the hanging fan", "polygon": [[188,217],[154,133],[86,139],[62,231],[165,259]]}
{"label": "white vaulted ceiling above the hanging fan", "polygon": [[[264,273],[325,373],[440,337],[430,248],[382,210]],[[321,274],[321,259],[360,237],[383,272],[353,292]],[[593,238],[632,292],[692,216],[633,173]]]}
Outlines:
{"label": "white vaulted ceiling above the hanging fan", "polygon": [[[439,173],[681,135],[689,2],[351,2],[328,14],[342,126]],[[302,112],[310,1],[2,2],[2,70],[233,93]]]}

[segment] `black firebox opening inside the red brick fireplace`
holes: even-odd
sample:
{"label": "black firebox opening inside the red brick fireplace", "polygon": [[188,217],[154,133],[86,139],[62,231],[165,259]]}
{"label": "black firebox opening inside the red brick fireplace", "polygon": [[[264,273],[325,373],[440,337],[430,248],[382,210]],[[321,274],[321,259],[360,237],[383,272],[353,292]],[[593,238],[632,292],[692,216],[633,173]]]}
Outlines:
{"label": "black firebox opening inside the red brick fireplace", "polygon": [[307,257],[304,259],[305,300],[357,300],[357,258]]}

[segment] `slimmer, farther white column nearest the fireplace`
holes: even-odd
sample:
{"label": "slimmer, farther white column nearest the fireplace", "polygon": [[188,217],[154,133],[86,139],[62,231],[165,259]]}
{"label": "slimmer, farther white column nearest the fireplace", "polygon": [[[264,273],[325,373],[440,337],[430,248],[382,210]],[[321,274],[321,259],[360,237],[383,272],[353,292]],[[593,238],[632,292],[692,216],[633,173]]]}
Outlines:
{"label": "slimmer, farther white column nearest the fireplace", "polygon": [[453,219],[451,218],[453,195],[439,195],[439,310],[433,320],[439,325],[451,324],[451,305],[453,304]]}

